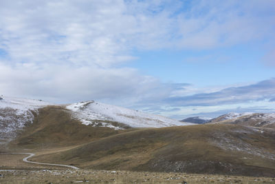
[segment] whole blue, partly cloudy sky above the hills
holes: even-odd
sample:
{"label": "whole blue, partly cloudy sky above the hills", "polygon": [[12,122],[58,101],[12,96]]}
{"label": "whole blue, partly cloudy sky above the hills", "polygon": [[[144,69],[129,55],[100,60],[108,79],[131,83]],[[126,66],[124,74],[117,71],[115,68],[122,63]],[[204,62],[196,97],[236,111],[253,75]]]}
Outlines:
{"label": "whole blue, partly cloudy sky above the hills", "polygon": [[0,1],[0,94],[184,119],[275,112],[274,0]]}

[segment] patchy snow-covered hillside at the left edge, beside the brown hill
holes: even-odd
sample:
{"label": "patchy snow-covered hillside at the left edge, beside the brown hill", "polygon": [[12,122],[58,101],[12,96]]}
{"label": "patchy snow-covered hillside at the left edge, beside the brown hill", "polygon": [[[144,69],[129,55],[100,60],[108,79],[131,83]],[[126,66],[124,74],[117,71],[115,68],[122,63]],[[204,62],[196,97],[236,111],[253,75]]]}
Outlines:
{"label": "patchy snow-covered hillside at the left edge, beside the brown hill", "polygon": [[21,130],[26,123],[32,123],[36,111],[45,105],[41,100],[18,99],[1,96],[0,99],[0,144],[11,141],[17,130]]}

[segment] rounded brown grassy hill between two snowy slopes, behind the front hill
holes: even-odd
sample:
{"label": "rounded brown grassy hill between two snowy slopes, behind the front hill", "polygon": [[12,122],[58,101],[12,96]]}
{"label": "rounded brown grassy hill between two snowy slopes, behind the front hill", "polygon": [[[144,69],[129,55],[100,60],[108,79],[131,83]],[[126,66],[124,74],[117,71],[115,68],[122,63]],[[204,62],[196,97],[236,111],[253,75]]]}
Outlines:
{"label": "rounded brown grassy hill between two snowy slopes, behind the front hill", "polygon": [[39,113],[34,115],[34,122],[26,125],[17,139],[10,143],[10,147],[36,150],[65,147],[128,131],[83,125],[80,121],[73,119],[69,111],[62,106],[41,108]]}

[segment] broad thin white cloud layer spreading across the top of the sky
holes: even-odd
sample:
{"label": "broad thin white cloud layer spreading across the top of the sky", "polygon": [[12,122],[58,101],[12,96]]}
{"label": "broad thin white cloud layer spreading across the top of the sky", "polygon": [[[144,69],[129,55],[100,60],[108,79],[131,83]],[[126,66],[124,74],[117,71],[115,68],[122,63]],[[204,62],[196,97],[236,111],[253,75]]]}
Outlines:
{"label": "broad thin white cloud layer spreading across the top of the sky", "polygon": [[248,2],[192,1],[186,10],[175,1],[1,1],[0,48],[10,62],[107,67],[133,59],[133,48],[208,49],[272,36],[274,3]]}

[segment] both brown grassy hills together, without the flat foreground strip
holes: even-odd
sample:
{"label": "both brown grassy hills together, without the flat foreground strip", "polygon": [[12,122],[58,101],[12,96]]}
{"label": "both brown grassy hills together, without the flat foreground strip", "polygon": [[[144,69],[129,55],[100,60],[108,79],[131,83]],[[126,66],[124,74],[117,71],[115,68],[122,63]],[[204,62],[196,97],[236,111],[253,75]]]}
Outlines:
{"label": "both brown grassy hills together, without the flat foreground strip", "polygon": [[48,106],[10,147],[86,169],[275,176],[275,130],[239,124],[113,130]]}

